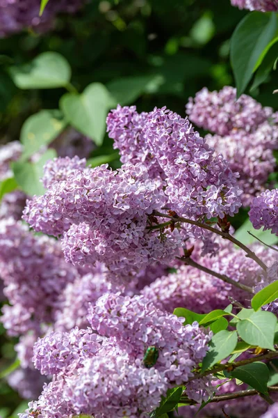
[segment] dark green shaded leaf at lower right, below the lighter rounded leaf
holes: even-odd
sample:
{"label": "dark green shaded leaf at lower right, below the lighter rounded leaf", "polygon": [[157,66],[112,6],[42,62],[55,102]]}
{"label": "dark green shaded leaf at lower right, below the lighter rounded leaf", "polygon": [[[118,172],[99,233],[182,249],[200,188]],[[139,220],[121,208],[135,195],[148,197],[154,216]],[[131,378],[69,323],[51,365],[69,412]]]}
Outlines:
{"label": "dark green shaded leaf at lower right, below the lighter rounded leaf", "polygon": [[267,394],[269,375],[268,366],[262,362],[254,362],[237,367],[229,377],[239,379],[262,394]]}

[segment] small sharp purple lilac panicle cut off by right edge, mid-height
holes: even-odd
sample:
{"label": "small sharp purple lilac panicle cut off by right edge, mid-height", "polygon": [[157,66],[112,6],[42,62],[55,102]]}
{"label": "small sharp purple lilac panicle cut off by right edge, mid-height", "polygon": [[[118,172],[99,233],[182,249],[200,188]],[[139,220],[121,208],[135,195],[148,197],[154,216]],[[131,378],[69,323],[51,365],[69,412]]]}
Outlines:
{"label": "small sharp purple lilac panicle cut off by right edge, mid-height", "polygon": [[250,206],[250,221],[255,229],[263,227],[278,235],[278,189],[265,190],[256,196]]}

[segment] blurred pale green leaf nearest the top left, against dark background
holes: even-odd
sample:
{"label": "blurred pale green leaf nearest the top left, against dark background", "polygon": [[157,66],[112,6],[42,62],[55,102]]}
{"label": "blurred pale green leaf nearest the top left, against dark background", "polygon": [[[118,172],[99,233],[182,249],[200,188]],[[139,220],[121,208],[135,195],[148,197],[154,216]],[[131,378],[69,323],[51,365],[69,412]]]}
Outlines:
{"label": "blurred pale green leaf nearest the top left, against dark background", "polygon": [[57,88],[70,82],[72,70],[67,60],[57,52],[43,52],[31,63],[13,66],[10,76],[18,88]]}

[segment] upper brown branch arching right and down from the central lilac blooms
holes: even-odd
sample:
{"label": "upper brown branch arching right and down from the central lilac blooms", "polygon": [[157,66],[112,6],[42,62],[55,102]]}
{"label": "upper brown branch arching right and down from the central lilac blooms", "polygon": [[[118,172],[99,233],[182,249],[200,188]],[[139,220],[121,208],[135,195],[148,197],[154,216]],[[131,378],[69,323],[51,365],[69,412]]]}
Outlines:
{"label": "upper brown branch arching right and down from the central lilac blooms", "polygon": [[[175,224],[176,222],[185,222],[186,224],[199,226],[199,228],[207,229],[208,231],[216,233],[216,234],[220,235],[222,238],[224,238],[224,240],[229,240],[229,241],[233,242],[235,245],[237,245],[238,247],[240,247],[241,249],[243,249],[243,251],[245,251],[247,256],[252,258],[252,260],[256,261],[256,263],[259,264],[260,267],[263,270],[266,271],[266,269],[267,269],[267,266],[265,265],[265,263],[263,263],[263,261],[261,261],[261,259],[258,256],[256,256],[254,251],[252,251],[250,248],[246,247],[246,245],[244,245],[242,242],[240,242],[236,238],[234,238],[233,235],[230,235],[229,232],[220,231],[220,229],[213,228],[213,226],[210,226],[208,224],[202,224],[202,222],[193,221],[193,219],[188,219],[188,218],[179,217],[179,216],[172,217],[170,215],[167,215],[167,214],[161,213],[161,212],[157,212],[157,211],[154,212],[154,216],[165,217],[165,218],[171,219],[173,224]],[[149,229],[150,230],[159,229],[159,225],[149,226]]]}

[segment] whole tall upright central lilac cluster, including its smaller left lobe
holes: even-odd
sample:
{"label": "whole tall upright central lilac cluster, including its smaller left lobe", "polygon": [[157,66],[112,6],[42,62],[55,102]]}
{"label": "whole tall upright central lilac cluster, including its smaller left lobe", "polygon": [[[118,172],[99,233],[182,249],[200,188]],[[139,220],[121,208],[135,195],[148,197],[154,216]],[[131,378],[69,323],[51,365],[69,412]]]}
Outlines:
{"label": "whole tall upright central lilac cluster, including its smaller left lobe", "polygon": [[161,177],[170,208],[179,215],[234,215],[240,206],[236,176],[188,119],[165,107],[141,115],[134,106],[119,105],[108,115],[109,136],[122,161],[139,161],[151,177]]}

